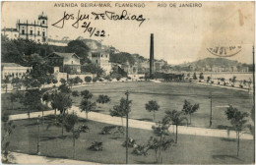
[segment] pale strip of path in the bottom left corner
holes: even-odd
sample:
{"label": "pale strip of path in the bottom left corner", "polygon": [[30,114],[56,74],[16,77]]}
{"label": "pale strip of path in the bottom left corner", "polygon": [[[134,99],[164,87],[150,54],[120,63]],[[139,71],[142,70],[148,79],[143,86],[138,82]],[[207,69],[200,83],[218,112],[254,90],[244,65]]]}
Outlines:
{"label": "pale strip of path in the bottom left corner", "polygon": [[[10,156],[13,159],[10,159],[12,163],[15,164],[100,164],[96,162],[87,162],[79,161],[72,159],[63,159],[63,158],[52,158],[46,156],[30,155],[18,152],[10,152]],[[9,157],[10,157],[9,156]]]}

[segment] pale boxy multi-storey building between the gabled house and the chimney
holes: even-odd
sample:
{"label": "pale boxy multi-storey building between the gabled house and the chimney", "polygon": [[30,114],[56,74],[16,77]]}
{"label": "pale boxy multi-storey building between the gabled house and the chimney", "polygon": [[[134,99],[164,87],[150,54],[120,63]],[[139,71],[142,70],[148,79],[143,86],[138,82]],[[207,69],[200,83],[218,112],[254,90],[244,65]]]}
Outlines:
{"label": "pale boxy multi-storey building between the gabled house and the chimney", "polygon": [[97,67],[104,70],[105,74],[108,75],[111,72],[111,63],[109,63],[109,53],[105,50],[94,50],[91,52],[91,61]]}

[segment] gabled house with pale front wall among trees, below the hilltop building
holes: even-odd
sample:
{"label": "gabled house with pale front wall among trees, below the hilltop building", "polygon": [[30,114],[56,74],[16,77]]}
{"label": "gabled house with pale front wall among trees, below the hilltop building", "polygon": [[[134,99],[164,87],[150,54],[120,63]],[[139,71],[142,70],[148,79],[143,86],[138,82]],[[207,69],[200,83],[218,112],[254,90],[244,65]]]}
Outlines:
{"label": "gabled house with pale front wall among trees, below the hilltop building", "polygon": [[80,57],[76,53],[53,52],[46,57],[46,61],[52,67],[59,67],[62,73],[81,73]]}

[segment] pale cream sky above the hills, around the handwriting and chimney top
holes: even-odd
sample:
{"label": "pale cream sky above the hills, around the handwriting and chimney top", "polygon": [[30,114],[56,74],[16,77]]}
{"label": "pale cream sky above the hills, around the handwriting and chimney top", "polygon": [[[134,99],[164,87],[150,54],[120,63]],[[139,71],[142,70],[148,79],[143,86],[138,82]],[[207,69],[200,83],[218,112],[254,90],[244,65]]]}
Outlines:
{"label": "pale cream sky above the hills, around the handwriting and chimney top", "polygon": [[[59,4],[77,4],[78,7],[56,7]],[[150,56],[150,35],[154,33],[155,58],[166,60],[169,64],[192,62],[206,57],[217,57],[207,51],[209,47],[241,46],[234,56],[225,57],[241,63],[252,63],[252,45],[255,42],[254,2],[200,2],[202,7],[178,7],[180,4],[197,2],[164,2],[167,7],[158,7],[160,2],[131,2],[144,4],[144,8],[116,7],[123,2],[112,2],[111,7],[81,7],[90,2],[4,2],[2,3],[1,27],[16,27],[17,20],[33,23],[42,12],[48,17],[48,36],[61,39],[78,36],[100,40],[102,44],[112,45],[120,51]],[[99,2],[95,2],[98,4]],[[107,2],[104,2],[107,3]],[[127,3],[127,2],[126,2]],[[176,8],[169,7],[175,3]],[[161,2],[162,4],[162,2]],[[55,7],[54,7],[55,6]],[[66,14],[90,15],[86,20],[96,30],[104,30],[105,36],[90,37],[79,28],[72,27],[74,20],[65,21],[63,28],[52,25]],[[145,22],[94,20],[92,12],[115,12],[120,15],[127,10],[129,15],[143,15]]]}

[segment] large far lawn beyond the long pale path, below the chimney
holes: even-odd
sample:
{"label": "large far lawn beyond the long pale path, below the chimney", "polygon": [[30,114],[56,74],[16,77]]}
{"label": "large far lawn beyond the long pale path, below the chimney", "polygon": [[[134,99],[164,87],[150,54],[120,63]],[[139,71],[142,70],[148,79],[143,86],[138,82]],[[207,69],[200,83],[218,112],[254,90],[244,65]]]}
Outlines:
{"label": "large far lawn beyond the long pale path, below the chimney", "polygon": [[[73,88],[78,91],[85,89],[93,92],[94,101],[99,94],[110,96],[111,103],[97,104],[96,111],[104,114],[109,114],[109,109],[118,104],[120,98],[125,97],[124,92],[129,90],[129,99],[132,100],[130,118],[146,121],[153,120],[153,113],[145,109],[149,100],[157,100],[160,104],[160,111],[156,112],[156,121],[160,121],[165,110],[181,110],[187,99],[192,104],[200,104],[200,109],[192,115],[192,126],[205,128],[209,127],[210,91],[213,94],[213,128],[230,126],[224,114],[228,104],[248,113],[253,106],[252,95],[246,91],[197,83],[106,83]],[[81,97],[73,97],[73,101],[73,105],[79,106]]]}

